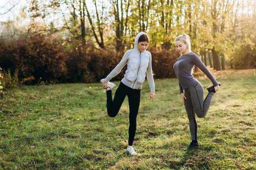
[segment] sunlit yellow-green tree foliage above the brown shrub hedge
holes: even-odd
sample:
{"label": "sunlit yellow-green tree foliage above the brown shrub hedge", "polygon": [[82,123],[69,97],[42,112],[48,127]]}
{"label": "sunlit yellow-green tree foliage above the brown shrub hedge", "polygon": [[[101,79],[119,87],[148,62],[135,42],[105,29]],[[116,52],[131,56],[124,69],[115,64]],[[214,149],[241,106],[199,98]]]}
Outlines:
{"label": "sunlit yellow-green tree foliage above the brown shrub hedge", "polygon": [[[193,40],[193,51],[213,51],[213,66],[216,69],[220,69],[219,56],[228,61],[233,59],[231,52],[234,48],[228,49],[225,44],[236,42],[245,28],[255,28],[255,21],[240,20],[240,17],[255,15],[255,4],[250,5],[249,0],[36,2],[31,3],[30,9],[33,10],[29,11],[30,16],[34,16],[34,13],[38,13],[36,17],[42,18],[56,15],[58,22],[63,23],[60,27],[70,32],[68,36],[79,39],[82,44],[97,44],[99,48],[114,46],[117,51],[129,48],[135,35],[145,31],[155,48],[172,49],[175,36],[187,33]],[[69,13],[64,14],[63,9],[69,9]],[[53,14],[53,10],[56,14]],[[255,37],[255,31],[251,35],[250,40]],[[233,36],[234,39],[231,38]]]}

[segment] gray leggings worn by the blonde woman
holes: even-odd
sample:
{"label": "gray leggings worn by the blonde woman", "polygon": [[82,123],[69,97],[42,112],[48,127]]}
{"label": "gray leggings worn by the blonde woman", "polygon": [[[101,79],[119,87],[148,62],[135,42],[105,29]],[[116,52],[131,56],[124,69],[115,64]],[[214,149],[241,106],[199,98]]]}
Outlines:
{"label": "gray leggings worn by the blonde woman", "polygon": [[198,118],[204,118],[204,116],[206,116],[213,94],[214,93],[210,92],[204,100],[204,88],[199,82],[196,85],[185,89],[185,109],[189,118],[189,128],[192,140],[197,140],[198,128],[195,114]]}

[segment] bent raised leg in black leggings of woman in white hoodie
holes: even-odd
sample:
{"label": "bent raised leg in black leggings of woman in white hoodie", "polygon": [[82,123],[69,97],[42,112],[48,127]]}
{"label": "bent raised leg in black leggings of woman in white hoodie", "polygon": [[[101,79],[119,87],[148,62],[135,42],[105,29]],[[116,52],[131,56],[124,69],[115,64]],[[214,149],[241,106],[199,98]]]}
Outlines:
{"label": "bent raised leg in black leggings of woman in white hoodie", "polygon": [[124,102],[124,98],[127,95],[126,86],[121,82],[118,86],[114,100],[112,100],[112,90],[107,90],[107,111],[108,116],[115,117],[117,116],[117,113],[119,112],[121,105]]}

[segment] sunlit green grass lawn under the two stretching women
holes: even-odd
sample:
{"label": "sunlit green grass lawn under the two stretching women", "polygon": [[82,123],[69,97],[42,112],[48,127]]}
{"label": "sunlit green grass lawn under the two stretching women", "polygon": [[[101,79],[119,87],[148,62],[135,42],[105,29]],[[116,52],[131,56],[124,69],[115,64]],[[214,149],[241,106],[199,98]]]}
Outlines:
{"label": "sunlit green grass lawn under the two stretching women", "polygon": [[211,71],[222,85],[197,118],[200,147],[184,151],[191,139],[177,79],[161,79],[154,101],[148,83],[141,90],[133,157],[124,149],[128,101],[108,117],[100,83],[9,89],[0,95],[0,169],[256,169],[256,70]]}

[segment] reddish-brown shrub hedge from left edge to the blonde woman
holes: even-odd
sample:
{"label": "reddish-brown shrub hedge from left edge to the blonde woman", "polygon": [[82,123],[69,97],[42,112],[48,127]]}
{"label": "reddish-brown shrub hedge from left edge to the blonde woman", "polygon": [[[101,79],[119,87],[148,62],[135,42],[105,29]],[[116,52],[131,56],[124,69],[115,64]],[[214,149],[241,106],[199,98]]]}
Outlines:
{"label": "reddish-brown shrub hedge from left edge to the blonde woman", "polygon": [[[1,67],[8,70],[8,77],[18,78],[19,83],[25,85],[99,82],[124,54],[41,34],[2,41],[0,46]],[[177,51],[159,51],[153,47],[149,50],[152,51],[155,77],[175,77],[172,67],[177,60]],[[125,70],[126,66],[113,80],[123,78]]]}

